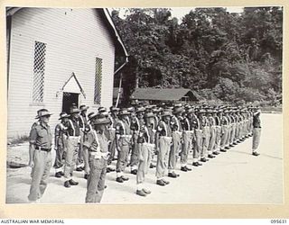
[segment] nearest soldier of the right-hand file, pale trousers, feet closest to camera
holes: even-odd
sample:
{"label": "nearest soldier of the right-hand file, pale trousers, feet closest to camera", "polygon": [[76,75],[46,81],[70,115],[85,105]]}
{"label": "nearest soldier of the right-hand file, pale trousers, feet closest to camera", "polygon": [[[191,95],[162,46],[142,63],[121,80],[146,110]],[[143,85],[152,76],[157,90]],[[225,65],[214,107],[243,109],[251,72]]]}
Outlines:
{"label": "nearest soldier of the right-hand file, pale trousers, feet closest to camera", "polygon": [[144,176],[148,172],[152,154],[155,149],[155,132],[153,130],[154,113],[147,112],[144,115],[145,123],[142,125],[138,134],[138,167],[136,174],[136,194],[146,196],[151,193],[150,190],[144,187]]}

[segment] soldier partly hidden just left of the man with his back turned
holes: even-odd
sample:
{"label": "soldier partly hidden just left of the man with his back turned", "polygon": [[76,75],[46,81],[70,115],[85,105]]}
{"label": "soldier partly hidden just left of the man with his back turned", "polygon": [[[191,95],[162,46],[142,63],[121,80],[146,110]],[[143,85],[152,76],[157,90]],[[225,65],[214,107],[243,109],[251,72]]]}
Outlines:
{"label": "soldier partly hidden just left of the man with his back turned", "polygon": [[[79,127],[80,127],[80,145],[79,145],[79,156],[76,164],[76,171],[82,171],[84,169],[84,162],[83,162],[83,141],[85,139],[84,137],[84,131],[88,125],[88,112],[89,106],[86,105],[80,105],[79,110]],[[88,171],[85,172],[85,174],[88,174]]]}

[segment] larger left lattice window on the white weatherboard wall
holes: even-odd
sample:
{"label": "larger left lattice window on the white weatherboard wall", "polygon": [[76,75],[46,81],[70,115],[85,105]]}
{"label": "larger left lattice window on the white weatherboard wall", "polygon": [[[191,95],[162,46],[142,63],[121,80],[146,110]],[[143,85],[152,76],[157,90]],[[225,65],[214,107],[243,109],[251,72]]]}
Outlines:
{"label": "larger left lattice window on the white weatherboard wall", "polygon": [[43,102],[45,53],[46,44],[35,41],[33,63],[33,103]]}

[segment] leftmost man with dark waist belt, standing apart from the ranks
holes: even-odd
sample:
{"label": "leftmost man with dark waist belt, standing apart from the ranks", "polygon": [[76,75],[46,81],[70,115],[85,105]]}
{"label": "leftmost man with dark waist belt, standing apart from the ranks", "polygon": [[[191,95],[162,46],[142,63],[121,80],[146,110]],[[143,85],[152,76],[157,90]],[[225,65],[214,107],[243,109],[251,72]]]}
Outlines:
{"label": "leftmost man with dark waist belt, standing apart from the ranks", "polygon": [[51,169],[51,127],[48,122],[51,113],[42,109],[38,112],[39,124],[30,132],[29,166],[32,170],[32,183],[28,199],[30,202],[38,202],[46,187]]}

